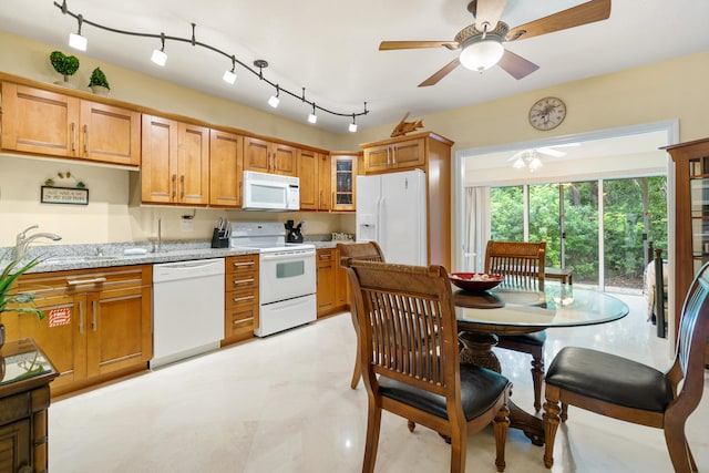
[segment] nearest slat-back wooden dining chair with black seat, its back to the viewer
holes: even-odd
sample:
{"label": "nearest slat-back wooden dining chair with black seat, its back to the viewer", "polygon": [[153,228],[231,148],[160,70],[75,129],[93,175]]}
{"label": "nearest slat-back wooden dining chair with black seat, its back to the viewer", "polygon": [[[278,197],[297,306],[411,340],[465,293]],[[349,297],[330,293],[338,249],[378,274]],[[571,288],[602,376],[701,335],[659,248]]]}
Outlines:
{"label": "nearest slat-back wooden dining chair with black seat, its back to the viewer", "polygon": [[505,467],[512,384],[460,364],[458,325],[442,266],[343,259],[357,305],[368,421],[362,472],[373,472],[381,411],[451,439],[451,472],[465,471],[467,434],[493,423],[497,471]]}

